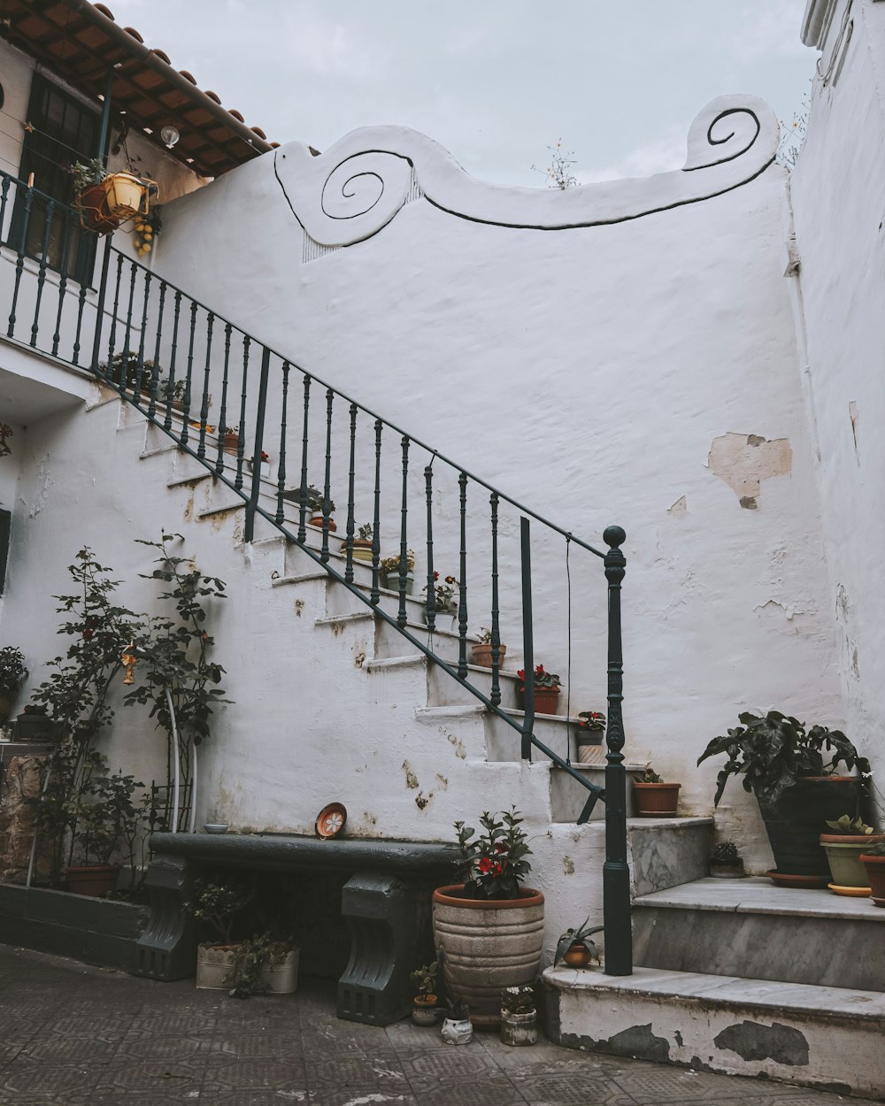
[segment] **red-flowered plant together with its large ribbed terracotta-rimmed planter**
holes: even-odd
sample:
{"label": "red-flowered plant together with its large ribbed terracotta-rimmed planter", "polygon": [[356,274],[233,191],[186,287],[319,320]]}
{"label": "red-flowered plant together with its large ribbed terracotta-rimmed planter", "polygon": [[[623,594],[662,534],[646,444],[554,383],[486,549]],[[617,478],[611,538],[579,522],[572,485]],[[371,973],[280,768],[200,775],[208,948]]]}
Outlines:
{"label": "red-flowered plant together with its large ribbed terracotta-rimmed planter", "polygon": [[447,994],[464,997],[472,1020],[498,1025],[501,991],[538,974],[544,896],[523,887],[531,849],[516,808],[483,812],[485,833],[456,822],[465,883],[434,891],[434,940]]}

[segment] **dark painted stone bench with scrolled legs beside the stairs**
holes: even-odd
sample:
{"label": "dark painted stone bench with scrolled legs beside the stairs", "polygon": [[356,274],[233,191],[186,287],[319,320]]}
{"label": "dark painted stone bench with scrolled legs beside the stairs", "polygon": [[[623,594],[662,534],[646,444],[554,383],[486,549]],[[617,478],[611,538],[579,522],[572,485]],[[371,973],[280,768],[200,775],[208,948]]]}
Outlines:
{"label": "dark painted stone bench with scrolled legs beside the stairs", "polygon": [[410,1009],[408,975],[429,946],[430,891],[455,878],[460,859],[456,845],[294,834],[156,833],[150,849],[150,920],[138,939],[136,975],[195,973],[196,925],[184,904],[202,869],[342,873],[350,876],[341,912],[351,958],[339,980],[337,1014],[372,1025],[387,1025]]}

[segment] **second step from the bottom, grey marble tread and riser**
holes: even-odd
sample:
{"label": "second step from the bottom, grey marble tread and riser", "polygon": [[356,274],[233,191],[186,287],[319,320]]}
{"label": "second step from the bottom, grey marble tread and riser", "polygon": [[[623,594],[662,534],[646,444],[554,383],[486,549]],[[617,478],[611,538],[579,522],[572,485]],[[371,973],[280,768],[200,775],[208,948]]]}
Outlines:
{"label": "second step from the bottom, grey marble tread and riser", "polygon": [[636,898],[633,942],[646,968],[885,991],[885,910],[829,890],[698,879]]}

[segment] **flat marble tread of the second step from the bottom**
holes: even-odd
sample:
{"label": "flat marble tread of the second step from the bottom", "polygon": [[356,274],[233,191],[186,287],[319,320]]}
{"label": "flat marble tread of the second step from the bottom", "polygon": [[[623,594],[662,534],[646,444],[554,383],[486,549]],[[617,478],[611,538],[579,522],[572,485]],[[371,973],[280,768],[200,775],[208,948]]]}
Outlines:
{"label": "flat marble tread of the second step from the bottom", "polygon": [[635,899],[634,906],[885,922],[885,910],[876,907],[870,898],[848,898],[830,890],[775,887],[770,879],[753,876],[746,879],[697,879],[642,895]]}

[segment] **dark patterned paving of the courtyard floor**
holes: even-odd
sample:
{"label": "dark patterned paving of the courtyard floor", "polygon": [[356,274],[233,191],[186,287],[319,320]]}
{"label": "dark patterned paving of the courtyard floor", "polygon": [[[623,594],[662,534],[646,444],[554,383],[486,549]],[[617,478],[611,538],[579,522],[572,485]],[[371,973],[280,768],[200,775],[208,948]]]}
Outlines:
{"label": "dark patterned paving of the courtyard floor", "polygon": [[487,1033],[442,1044],[408,1020],[342,1022],[334,985],[229,999],[0,946],[0,1103],[9,1106],[862,1106],[865,1099]]}

